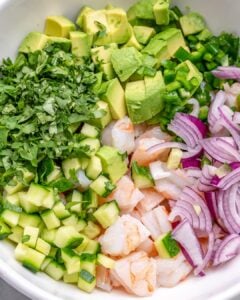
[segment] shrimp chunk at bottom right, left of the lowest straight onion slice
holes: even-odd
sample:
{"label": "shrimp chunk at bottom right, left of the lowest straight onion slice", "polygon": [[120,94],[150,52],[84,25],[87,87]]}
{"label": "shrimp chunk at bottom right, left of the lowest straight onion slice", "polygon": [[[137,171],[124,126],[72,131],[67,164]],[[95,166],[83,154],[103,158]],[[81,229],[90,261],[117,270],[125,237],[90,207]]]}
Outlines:
{"label": "shrimp chunk at bottom right, left of the lowest straight onion slice", "polygon": [[192,271],[182,253],[170,259],[157,258],[157,286],[174,287]]}

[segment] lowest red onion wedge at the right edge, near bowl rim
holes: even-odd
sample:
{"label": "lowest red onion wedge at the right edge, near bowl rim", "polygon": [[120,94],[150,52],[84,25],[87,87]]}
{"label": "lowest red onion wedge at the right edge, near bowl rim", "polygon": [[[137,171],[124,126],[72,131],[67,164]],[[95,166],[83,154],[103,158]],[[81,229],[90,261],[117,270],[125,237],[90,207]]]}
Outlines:
{"label": "lowest red onion wedge at the right edge, near bowl rim", "polygon": [[240,253],[240,236],[238,234],[228,235],[219,245],[214,255],[213,266],[223,264]]}

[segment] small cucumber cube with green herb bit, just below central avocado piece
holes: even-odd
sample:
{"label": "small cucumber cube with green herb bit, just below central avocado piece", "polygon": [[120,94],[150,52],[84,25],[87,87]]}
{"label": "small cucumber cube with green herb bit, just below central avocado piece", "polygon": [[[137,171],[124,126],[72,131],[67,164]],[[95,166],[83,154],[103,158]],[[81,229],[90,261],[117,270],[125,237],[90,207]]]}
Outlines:
{"label": "small cucumber cube with green herb bit, just below central avocado piece", "polygon": [[105,176],[100,175],[91,184],[90,188],[101,197],[107,197],[116,186]]}

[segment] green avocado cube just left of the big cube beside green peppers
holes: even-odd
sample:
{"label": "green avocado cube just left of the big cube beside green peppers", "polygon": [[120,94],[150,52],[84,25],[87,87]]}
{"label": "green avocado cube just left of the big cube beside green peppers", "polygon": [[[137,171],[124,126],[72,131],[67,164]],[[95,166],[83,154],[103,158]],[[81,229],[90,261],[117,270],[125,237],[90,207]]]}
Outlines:
{"label": "green avocado cube just left of the big cube beside green peppers", "polygon": [[150,40],[147,46],[142,50],[142,53],[154,56],[158,61],[157,67],[159,67],[162,61],[169,59],[171,55],[168,51],[167,42],[154,38]]}

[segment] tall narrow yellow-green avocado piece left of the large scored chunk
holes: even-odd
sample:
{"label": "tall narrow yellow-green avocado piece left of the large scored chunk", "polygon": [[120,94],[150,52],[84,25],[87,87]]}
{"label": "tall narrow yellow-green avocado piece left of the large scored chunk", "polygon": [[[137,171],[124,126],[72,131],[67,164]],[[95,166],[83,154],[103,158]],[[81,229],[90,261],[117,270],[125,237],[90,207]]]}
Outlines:
{"label": "tall narrow yellow-green avocado piece left of the large scored chunk", "polygon": [[105,85],[106,90],[101,98],[108,103],[112,118],[122,119],[127,114],[124,89],[117,78],[108,81]]}

